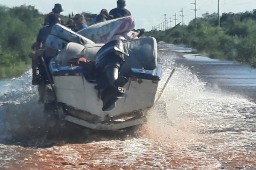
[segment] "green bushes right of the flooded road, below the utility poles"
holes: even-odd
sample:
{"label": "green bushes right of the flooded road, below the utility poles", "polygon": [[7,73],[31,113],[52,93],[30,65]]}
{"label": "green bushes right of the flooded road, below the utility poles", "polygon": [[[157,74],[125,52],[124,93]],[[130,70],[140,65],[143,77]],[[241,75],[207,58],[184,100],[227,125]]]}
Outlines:
{"label": "green bushes right of the flooded road, below the utility poles", "polygon": [[149,31],[146,35],[158,41],[185,44],[212,58],[236,60],[256,67],[256,10],[244,13],[224,13],[221,27],[217,14],[206,13],[192,20],[188,26],[177,26],[166,31]]}

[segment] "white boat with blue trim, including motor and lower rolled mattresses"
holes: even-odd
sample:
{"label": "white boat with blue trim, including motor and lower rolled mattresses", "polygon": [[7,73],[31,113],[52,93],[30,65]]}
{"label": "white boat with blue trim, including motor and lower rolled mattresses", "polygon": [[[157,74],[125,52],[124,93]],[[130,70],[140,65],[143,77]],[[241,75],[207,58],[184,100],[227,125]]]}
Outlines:
{"label": "white boat with blue trim, including motor and lower rolled mattresses", "polygon": [[106,44],[64,40],[67,44],[49,63],[59,116],[94,130],[142,125],[162,75],[156,39]]}

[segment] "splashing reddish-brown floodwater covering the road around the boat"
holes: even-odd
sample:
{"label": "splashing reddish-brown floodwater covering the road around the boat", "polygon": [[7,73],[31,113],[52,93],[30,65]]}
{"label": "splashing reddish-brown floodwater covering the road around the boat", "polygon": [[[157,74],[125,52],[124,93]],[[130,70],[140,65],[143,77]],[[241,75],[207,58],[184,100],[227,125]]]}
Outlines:
{"label": "splashing reddish-brown floodwater covering the road around the boat", "polygon": [[159,48],[160,87],[176,71],[135,133],[46,122],[29,71],[0,82],[0,169],[256,169],[255,70],[174,52],[189,50],[183,47]]}

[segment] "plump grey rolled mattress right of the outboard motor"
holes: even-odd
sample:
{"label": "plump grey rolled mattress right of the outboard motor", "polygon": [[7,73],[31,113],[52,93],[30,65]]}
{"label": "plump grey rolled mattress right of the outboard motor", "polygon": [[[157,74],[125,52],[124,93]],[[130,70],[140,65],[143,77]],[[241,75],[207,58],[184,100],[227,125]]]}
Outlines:
{"label": "plump grey rolled mattress right of the outboard motor", "polygon": [[131,68],[154,70],[157,67],[157,40],[154,37],[144,37],[124,43],[129,57],[125,57],[121,73],[127,75]]}

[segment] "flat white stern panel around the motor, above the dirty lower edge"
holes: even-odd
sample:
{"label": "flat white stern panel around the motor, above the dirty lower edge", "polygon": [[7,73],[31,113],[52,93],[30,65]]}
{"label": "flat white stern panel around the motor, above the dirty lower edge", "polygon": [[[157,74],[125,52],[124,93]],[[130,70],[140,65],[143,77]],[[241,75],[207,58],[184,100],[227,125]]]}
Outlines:
{"label": "flat white stern panel around the motor, above the dirty lower edge", "polygon": [[148,79],[132,78],[125,84],[127,96],[116,102],[111,111],[102,111],[103,103],[98,97],[99,91],[94,89],[95,84],[87,82],[81,75],[54,76],[55,93],[58,102],[65,103],[81,111],[87,111],[105,117],[118,116],[120,113],[130,113],[154,105],[158,82]]}

